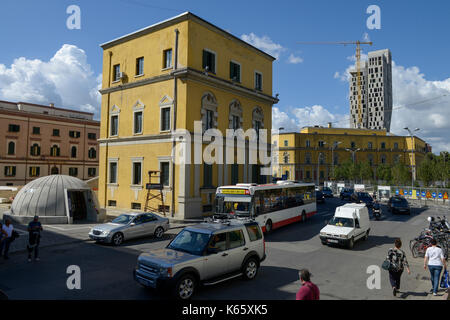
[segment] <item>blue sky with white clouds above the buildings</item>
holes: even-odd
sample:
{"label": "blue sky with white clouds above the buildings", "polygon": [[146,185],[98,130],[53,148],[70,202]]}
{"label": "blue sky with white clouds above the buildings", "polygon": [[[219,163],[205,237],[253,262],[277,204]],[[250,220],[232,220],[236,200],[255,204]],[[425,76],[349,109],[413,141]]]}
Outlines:
{"label": "blue sky with white clouds above the buildings", "polygon": [[[70,5],[80,29],[67,28]],[[371,5],[380,29],[369,29]],[[391,132],[420,128],[433,152],[450,151],[450,1],[448,0],[2,0],[0,100],[93,112],[98,119],[101,43],[185,11],[273,55],[273,129],[348,127],[348,70],[354,46],[308,41],[370,40],[363,53],[393,58]]]}

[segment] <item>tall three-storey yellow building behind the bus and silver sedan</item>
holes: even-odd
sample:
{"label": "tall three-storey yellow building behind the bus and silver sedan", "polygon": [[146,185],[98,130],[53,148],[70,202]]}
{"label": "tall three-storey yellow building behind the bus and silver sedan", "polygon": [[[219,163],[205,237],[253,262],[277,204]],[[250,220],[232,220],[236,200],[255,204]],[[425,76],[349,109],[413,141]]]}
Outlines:
{"label": "tall three-storey yellow building behind the bus and silver sedan", "polygon": [[147,172],[159,170],[171,215],[199,217],[213,210],[217,186],[259,179],[257,165],[193,164],[193,154],[178,164],[174,132],[194,141],[195,121],[223,135],[270,129],[275,58],[189,12],[101,47],[101,205],[144,209]]}

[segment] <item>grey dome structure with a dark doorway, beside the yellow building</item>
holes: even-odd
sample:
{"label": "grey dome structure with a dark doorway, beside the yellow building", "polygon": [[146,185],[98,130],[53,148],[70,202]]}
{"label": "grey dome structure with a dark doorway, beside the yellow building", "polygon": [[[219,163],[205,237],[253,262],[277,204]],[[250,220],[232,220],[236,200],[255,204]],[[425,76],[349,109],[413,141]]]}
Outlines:
{"label": "grey dome structure with a dark doorway, beside the yellow building", "polygon": [[50,175],[31,181],[17,193],[11,205],[13,220],[27,222],[35,215],[43,223],[101,221],[98,200],[86,182],[66,175]]}

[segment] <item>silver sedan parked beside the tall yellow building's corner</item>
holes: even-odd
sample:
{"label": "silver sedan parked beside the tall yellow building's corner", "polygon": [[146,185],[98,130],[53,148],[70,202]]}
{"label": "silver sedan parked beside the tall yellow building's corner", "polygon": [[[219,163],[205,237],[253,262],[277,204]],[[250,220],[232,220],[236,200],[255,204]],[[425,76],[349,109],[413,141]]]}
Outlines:
{"label": "silver sedan parked beside the tall yellow building's corner", "polygon": [[150,212],[121,214],[111,222],[95,226],[89,238],[97,242],[111,243],[115,246],[124,240],[153,235],[161,238],[169,230],[169,219]]}

